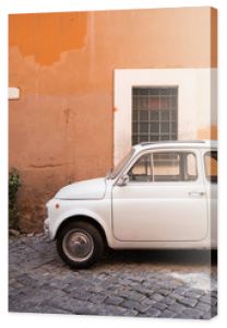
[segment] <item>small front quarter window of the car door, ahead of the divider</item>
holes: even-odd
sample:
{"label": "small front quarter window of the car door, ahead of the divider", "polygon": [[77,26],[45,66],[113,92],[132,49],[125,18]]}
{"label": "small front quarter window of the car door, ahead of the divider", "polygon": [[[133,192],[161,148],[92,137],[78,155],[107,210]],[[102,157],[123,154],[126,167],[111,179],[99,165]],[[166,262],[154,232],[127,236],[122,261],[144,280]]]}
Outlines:
{"label": "small front quarter window of the car door, ahead of the divider", "polygon": [[128,173],[130,181],[151,181],[151,154],[142,155]]}

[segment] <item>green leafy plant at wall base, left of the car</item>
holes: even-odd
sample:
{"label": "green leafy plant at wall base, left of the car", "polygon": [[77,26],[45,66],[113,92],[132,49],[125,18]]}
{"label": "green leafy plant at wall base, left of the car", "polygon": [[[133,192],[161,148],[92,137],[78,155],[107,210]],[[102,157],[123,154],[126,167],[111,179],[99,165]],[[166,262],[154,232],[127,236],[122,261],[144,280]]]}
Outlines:
{"label": "green leafy plant at wall base, left of the car", "polygon": [[9,173],[9,227],[19,229],[19,212],[16,208],[17,191],[21,187],[20,176],[16,168]]}

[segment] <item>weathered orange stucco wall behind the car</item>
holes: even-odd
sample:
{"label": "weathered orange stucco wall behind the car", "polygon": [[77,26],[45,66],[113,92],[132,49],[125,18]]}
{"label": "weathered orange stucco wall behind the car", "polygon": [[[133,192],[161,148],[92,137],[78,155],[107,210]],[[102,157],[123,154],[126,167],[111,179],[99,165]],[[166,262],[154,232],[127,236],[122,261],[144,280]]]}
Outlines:
{"label": "weathered orange stucco wall behind the car", "polygon": [[41,229],[61,186],[112,165],[113,69],[215,68],[216,38],[211,8],[10,15],[9,81],[21,90],[10,101],[10,166],[23,184],[22,229]]}

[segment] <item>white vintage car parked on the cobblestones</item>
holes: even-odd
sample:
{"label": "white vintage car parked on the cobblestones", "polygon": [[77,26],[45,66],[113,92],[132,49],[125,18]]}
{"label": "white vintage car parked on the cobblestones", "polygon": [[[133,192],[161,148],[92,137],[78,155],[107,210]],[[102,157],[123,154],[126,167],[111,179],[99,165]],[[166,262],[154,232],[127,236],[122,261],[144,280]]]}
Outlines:
{"label": "white vintage car parked on the cobblestones", "polygon": [[217,247],[216,141],[146,142],[106,177],[71,184],[48,201],[60,257],[86,268],[115,249]]}

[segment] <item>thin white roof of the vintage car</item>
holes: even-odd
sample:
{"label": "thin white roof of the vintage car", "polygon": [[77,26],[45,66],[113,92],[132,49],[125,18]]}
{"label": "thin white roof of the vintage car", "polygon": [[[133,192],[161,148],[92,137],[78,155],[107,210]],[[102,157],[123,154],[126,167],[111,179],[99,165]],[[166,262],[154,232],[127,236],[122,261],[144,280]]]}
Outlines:
{"label": "thin white roof of the vintage car", "polygon": [[217,149],[217,140],[167,140],[157,142],[141,142],[133,148],[136,151],[159,148],[192,148],[192,149]]}

